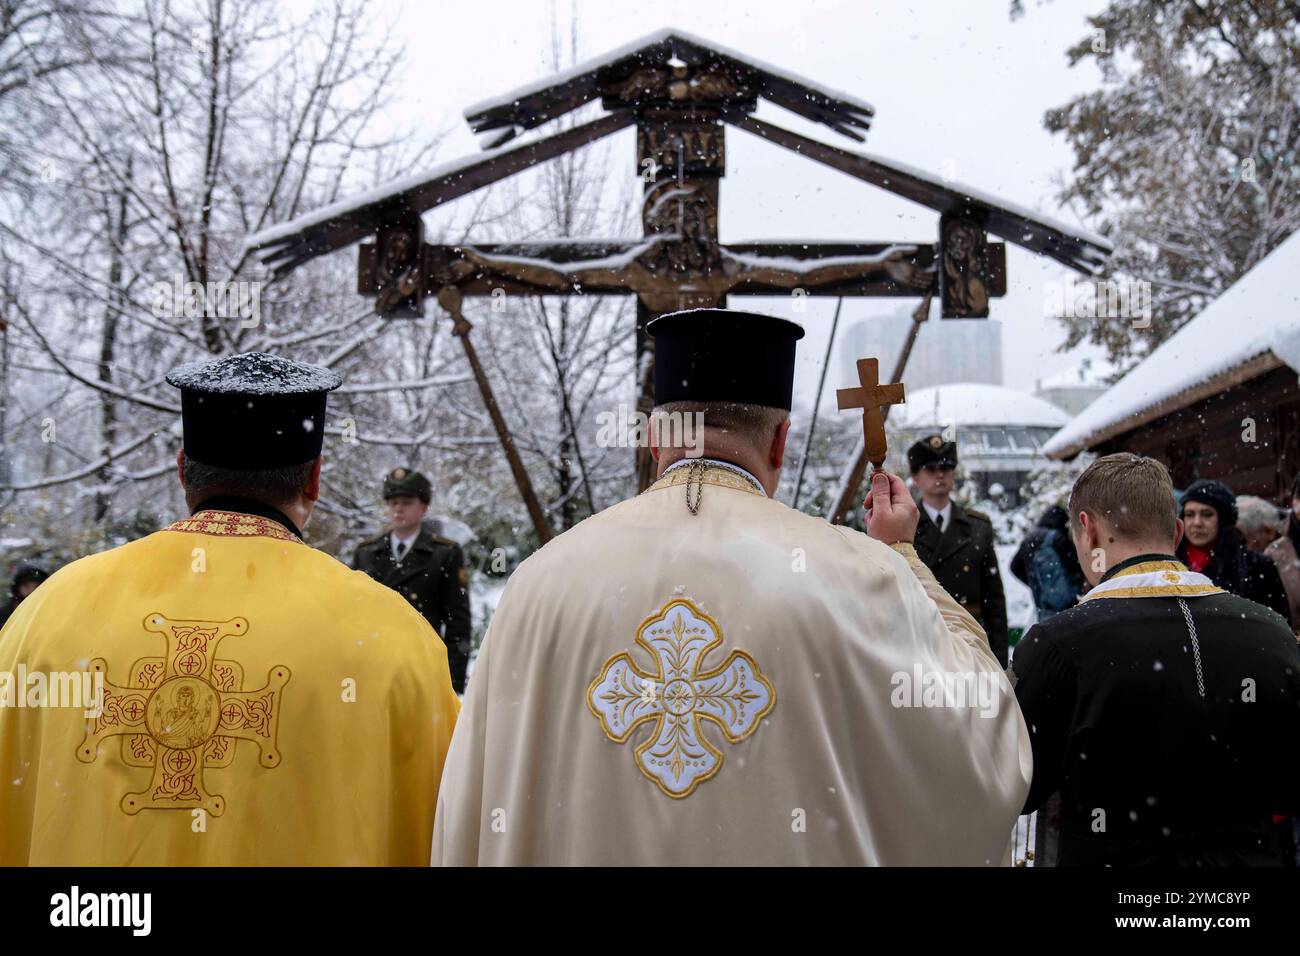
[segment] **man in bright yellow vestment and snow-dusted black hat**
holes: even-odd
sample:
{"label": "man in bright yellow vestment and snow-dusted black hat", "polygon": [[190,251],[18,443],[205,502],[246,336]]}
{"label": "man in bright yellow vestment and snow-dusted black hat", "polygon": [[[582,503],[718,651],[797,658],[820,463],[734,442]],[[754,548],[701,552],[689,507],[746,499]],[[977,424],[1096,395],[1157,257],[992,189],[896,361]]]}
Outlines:
{"label": "man in bright yellow vestment and snow-dusted black hat", "polygon": [[254,352],[169,381],[191,516],[0,631],[0,865],[425,865],[446,648],[299,535],[338,376]]}

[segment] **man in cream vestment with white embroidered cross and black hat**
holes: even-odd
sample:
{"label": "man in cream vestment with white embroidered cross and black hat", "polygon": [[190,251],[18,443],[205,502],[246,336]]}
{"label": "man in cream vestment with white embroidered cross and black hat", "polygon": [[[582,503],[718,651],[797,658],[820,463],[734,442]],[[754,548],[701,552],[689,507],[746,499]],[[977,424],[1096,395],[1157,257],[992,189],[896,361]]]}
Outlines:
{"label": "man in cream vestment with white embroidered cross and black hat", "polygon": [[654,424],[699,412],[703,447],[660,433],[646,492],[511,576],[433,862],[1004,864],[1028,734],[909,544],[902,481],[874,479],[881,540],[774,501],[802,330],[723,310],[650,329]]}

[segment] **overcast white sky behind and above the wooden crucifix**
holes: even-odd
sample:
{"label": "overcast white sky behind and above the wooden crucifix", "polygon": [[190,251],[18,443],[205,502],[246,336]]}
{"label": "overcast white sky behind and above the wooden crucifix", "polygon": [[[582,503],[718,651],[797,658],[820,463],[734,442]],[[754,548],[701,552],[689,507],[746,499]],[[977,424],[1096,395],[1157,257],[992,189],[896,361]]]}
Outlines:
{"label": "overcast white sky behind and above the wooden crucifix", "polygon": [[[460,116],[464,107],[550,73],[552,13],[576,16],[582,59],[667,26],[866,99],[876,109],[867,142],[854,147],[833,131],[763,105],[759,116],[824,142],[864,148],[949,174],[1009,202],[1067,222],[1054,178],[1071,151],[1043,127],[1043,114],[1096,88],[1089,64],[1070,69],[1067,47],[1088,34],[1084,17],[1104,0],[1026,1],[1011,21],[1008,0],[473,0],[468,4],[378,0],[376,16],[396,22],[408,44],[404,101],[394,109],[428,117],[430,129],[454,127],[439,159],[477,151]],[[634,165],[630,131],[611,138],[611,156]],[[621,160],[620,160],[621,161]],[[803,160],[740,130],[727,131],[722,185],[722,238],[933,242],[937,213],[842,173]],[[1084,224],[1093,225],[1093,224]],[[1063,329],[1044,316],[1046,284],[1072,274],[1052,260],[1008,246],[1008,295],[992,315],[1004,324],[1004,384],[1030,390],[1035,380],[1096,354],[1056,351]],[[744,298],[788,313],[788,299]],[[846,299],[841,328],[854,319],[897,312],[905,299]],[[833,299],[811,300],[790,317],[807,336],[800,347],[797,401],[807,402],[829,333]],[[783,312],[784,310],[784,312]],[[935,310],[937,315],[937,304]],[[881,356],[884,368],[894,356]],[[838,358],[827,381],[833,402]]]}

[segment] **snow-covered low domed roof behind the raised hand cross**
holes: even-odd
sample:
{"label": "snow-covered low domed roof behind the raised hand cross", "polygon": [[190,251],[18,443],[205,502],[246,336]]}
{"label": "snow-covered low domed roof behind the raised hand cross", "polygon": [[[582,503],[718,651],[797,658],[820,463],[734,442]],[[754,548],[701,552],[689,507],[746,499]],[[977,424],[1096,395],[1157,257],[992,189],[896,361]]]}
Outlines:
{"label": "snow-covered low domed roof behind the raised hand cross", "polygon": [[[906,376],[904,376],[906,378]],[[1039,425],[1060,428],[1070,416],[1050,402],[1002,385],[957,382],[907,393],[889,412],[892,431],[956,425]]]}

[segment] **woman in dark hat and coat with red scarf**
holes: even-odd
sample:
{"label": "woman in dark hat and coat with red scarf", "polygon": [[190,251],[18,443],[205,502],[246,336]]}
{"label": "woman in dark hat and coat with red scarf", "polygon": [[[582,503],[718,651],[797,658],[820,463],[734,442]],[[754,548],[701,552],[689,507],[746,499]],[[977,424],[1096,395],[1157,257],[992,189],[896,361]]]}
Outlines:
{"label": "woman in dark hat and coat with red scarf", "polygon": [[1183,492],[1183,540],[1178,557],[1231,594],[1271,607],[1287,623],[1291,610],[1278,568],[1245,546],[1236,528],[1236,496],[1222,481],[1201,479]]}

